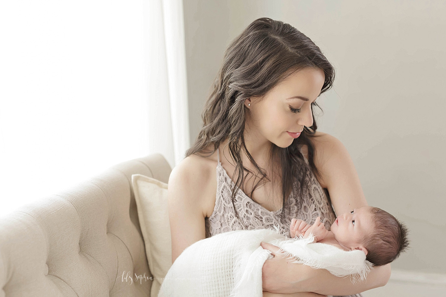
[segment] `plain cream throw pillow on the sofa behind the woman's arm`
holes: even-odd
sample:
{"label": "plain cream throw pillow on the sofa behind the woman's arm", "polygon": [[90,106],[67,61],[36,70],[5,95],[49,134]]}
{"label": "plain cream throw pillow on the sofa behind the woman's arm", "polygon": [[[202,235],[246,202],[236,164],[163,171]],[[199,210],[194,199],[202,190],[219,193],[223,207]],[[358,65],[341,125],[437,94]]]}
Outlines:
{"label": "plain cream throw pillow on the sofa behind the woman's arm", "polygon": [[147,261],[153,275],[150,296],[157,297],[164,277],[172,266],[167,183],[145,175],[134,174],[132,187]]}

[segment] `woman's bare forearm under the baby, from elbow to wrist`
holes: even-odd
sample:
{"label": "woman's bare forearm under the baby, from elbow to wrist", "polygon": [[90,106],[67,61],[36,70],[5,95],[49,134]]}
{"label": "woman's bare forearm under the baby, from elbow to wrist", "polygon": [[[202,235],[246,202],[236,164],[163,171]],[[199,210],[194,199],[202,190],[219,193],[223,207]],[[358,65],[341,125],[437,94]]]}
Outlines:
{"label": "woman's bare forearm under the baby, from elbow to wrist", "polygon": [[306,291],[323,295],[353,295],[378,288],[387,284],[390,277],[390,264],[374,267],[367,275],[365,281],[353,284],[350,277],[336,277],[326,269],[312,269],[312,277],[301,284]]}

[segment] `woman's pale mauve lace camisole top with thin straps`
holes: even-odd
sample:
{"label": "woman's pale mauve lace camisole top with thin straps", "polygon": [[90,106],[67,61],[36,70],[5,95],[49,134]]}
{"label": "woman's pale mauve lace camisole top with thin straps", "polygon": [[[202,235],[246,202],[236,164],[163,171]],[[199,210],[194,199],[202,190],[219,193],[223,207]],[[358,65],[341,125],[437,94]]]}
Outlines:
{"label": "woman's pale mauve lace camisole top with thin straps", "polygon": [[[205,218],[206,238],[215,234],[233,230],[265,229],[277,226],[281,233],[287,232],[289,236],[289,224],[291,219],[301,219],[308,224],[313,224],[318,216],[330,230],[336,216],[326,192],[322,189],[318,180],[312,173],[307,175],[306,182],[309,185],[308,193],[304,193],[301,208],[297,209],[297,201],[293,191],[289,196],[290,208],[285,207],[285,222],[281,223],[282,208],[277,211],[269,211],[260,204],[254,202],[241,189],[235,196],[235,207],[242,222],[235,216],[231,201],[231,187],[234,183],[227,175],[220,162],[219,149],[217,149],[217,193],[215,195],[215,207],[210,217]],[[305,162],[308,160],[304,157]],[[293,184],[296,187],[296,183]]]}

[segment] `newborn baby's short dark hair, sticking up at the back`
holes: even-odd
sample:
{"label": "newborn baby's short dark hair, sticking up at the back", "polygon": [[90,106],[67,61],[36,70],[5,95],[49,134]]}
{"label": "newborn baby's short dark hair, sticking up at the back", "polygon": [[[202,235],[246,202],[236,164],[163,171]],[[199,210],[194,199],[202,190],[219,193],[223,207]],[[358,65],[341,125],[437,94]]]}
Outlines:
{"label": "newborn baby's short dark hair, sticking up at the back", "polygon": [[388,264],[409,248],[408,229],[388,212],[372,207],[373,232],[364,236],[366,260],[374,266]]}

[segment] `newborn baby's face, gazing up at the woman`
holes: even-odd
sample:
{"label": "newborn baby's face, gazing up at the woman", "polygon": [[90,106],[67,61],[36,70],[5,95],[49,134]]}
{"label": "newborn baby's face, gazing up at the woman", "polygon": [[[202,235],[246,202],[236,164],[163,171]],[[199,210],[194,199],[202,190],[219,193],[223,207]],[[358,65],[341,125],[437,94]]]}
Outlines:
{"label": "newborn baby's face, gazing up at the woman", "polygon": [[[349,250],[363,248],[359,241],[364,236],[371,235],[373,231],[371,208],[370,206],[355,208],[336,218],[330,231],[340,245]],[[365,250],[364,252],[367,255]]]}

